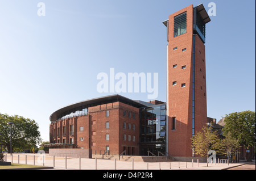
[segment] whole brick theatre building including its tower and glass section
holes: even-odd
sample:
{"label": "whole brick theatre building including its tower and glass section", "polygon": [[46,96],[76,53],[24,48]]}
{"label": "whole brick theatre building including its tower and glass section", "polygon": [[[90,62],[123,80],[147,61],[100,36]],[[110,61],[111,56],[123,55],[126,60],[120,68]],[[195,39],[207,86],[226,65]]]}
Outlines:
{"label": "whole brick theatre building including its tower and glass section", "polygon": [[[195,157],[191,137],[208,122],[204,6],[170,15],[167,27],[167,98],[143,102],[110,95],[71,104],[52,113],[50,142],[58,148],[109,150]],[[163,87],[159,86],[159,87]]]}

